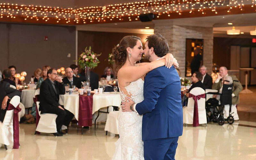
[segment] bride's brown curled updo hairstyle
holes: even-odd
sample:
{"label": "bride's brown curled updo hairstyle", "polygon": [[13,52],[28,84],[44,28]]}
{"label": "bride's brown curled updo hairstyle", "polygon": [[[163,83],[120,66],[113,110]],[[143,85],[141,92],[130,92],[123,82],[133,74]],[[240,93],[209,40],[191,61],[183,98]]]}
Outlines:
{"label": "bride's brown curled updo hairstyle", "polygon": [[128,57],[127,48],[133,48],[137,41],[141,40],[140,37],[137,36],[125,36],[121,39],[120,43],[117,44],[112,49],[113,60],[114,60],[114,70],[117,75],[118,70],[124,65],[126,58]]}

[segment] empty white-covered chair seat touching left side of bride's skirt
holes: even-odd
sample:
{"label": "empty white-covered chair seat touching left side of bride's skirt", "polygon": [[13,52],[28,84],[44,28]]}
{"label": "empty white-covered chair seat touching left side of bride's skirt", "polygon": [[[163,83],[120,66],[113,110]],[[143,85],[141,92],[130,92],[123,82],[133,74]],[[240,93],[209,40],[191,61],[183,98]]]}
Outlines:
{"label": "empty white-covered chair seat touching left side of bride's skirt", "polygon": [[108,118],[107,118],[105,129],[104,129],[106,131],[106,135],[108,135],[108,132],[119,134],[118,116],[119,116],[119,111],[112,111],[108,113]]}

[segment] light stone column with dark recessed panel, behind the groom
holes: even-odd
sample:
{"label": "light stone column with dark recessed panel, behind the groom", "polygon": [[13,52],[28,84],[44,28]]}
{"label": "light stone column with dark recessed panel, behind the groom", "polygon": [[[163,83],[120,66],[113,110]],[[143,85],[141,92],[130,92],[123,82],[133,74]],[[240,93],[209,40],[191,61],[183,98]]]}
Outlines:
{"label": "light stone column with dark recessed panel, behind the groom", "polygon": [[212,73],[213,28],[155,23],[155,34],[160,33],[168,43],[170,52],[180,64],[181,77],[185,77],[186,38],[204,39],[203,65]]}

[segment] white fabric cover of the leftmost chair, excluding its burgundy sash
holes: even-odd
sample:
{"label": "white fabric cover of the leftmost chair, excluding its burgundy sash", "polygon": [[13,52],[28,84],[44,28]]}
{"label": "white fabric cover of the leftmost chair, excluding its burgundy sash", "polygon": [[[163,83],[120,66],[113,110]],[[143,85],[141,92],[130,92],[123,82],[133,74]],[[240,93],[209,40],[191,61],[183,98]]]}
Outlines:
{"label": "white fabric cover of the leftmost chair, excluding its burgundy sash", "polygon": [[[17,108],[17,106],[20,104],[20,97],[19,96],[12,97],[9,103],[9,106],[10,104],[13,107]],[[13,143],[13,114],[14,114],[14,109],[7,110],[4,116],[4,122],[2,123],[0,121],[0,144],[4,144],[4,147],[6,150],[7,150],[7,146]],[[19,121],[18,123],[16,123],[16,125],[19,125]],[[19,130],[17,132],[18,132],[17,134],[19,135]]]}

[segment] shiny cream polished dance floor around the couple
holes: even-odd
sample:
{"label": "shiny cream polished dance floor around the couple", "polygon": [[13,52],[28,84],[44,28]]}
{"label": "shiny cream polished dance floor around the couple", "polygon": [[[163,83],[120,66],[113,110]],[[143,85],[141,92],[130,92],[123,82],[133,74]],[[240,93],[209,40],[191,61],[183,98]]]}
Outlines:
{"label": "shiny cream polished dance floor around the couple", "polygon": [[[239,125],[238,125],[239,124]],[[249,125],[250,127],[246,127]],[[5,151],[0,148],[1,160],[111,160],[117,135],[105,135],[104,124],[84,131],[75,125],[63,137],[51,134],[34,135],[35,124],[20,124],[20,148]],[[176,160],[255,160],[256,123],[240,121],[233,125],[217,124],[184,126],[179,138]]]}

